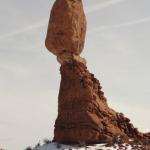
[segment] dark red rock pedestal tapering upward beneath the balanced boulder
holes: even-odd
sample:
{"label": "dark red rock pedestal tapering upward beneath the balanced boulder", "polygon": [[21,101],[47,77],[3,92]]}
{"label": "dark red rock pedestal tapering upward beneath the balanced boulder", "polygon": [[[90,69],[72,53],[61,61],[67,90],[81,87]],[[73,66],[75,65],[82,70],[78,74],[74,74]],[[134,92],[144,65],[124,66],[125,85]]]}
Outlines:
{"label": "dark red rock pedestal tapering upward beneath the balanced boulder", "polygon": [[85,64],[72,61],[63,64],[60,71],[54,141],[99,143],[117,135],[124,140],[143,136],[122,113],[108,107],[99,81]]}

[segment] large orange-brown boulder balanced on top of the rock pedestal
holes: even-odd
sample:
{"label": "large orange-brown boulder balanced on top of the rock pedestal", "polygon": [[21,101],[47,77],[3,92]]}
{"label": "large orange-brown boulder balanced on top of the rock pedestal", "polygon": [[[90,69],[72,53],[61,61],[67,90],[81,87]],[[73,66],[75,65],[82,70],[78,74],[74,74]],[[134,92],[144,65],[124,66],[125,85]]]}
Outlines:
{"label": "large orange-brown boulder balanced on top of the rock pedestal", "polygon": [[47,49],[58,57],[63,53],[68,57],[79,55],[84,47],[85,33],[82,0],[56,0],[45,41]]}

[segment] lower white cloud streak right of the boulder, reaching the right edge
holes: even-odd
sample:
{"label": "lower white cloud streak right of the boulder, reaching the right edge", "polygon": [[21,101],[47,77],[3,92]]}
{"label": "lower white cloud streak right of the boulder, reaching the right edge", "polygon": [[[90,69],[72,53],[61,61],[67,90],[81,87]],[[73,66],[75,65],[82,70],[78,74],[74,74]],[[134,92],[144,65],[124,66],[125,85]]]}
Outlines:
{"label": "lower white cloud streak right of the boulder, reaching the right edge", "polygon": [[100,27],[96,27],[94,29],[89,30],[88,34],[95,33],[95,32],[101,32],[101,31],[104,31],[104,30],[111,30],[111,29],[118,29],[118,28],[122,28],[122,27],[129,27],[129,26],[133,26],[133,25],[137,25],[137,24],[141,24],[141,23],[146,23],[146,22],[149,22],[149,21],[150,21],[150,17],[147,17],[147,18],[134,20],[134,21],[127,22],[127,23],[112,25],[112,26],[100,26]]}

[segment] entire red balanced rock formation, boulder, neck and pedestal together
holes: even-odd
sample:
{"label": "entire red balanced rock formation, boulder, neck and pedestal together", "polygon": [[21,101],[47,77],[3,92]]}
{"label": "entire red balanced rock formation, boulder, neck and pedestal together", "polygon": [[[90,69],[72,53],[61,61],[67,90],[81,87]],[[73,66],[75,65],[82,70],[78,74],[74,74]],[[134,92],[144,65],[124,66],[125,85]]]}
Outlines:
{"label": "entire red balanced rock formation, boulder, neck and pedestal together", "polygon": [[134,139],[148,145],[150,134],[140,133],[130,119],[108,106],[99,81],[87,70],[85,59],[80,57],[85,34],[82,0],[56,0],[45,41],[61,64],[54,141],[69,144]]}

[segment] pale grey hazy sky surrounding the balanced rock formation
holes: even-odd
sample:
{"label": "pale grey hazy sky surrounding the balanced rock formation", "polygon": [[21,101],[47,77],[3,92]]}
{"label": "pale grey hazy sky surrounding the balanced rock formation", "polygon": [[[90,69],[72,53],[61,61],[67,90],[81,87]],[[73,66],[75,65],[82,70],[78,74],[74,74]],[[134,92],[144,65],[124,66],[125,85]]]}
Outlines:
{"label": "pale grey hazy sky surrounding the balanced rock formation", "polygon": [[[54,0],[0,0],[0,147],[53,137],[59,64],[44,40]],[[150,1],[84,0],[82,56],[109,105],[150,131]]]}

